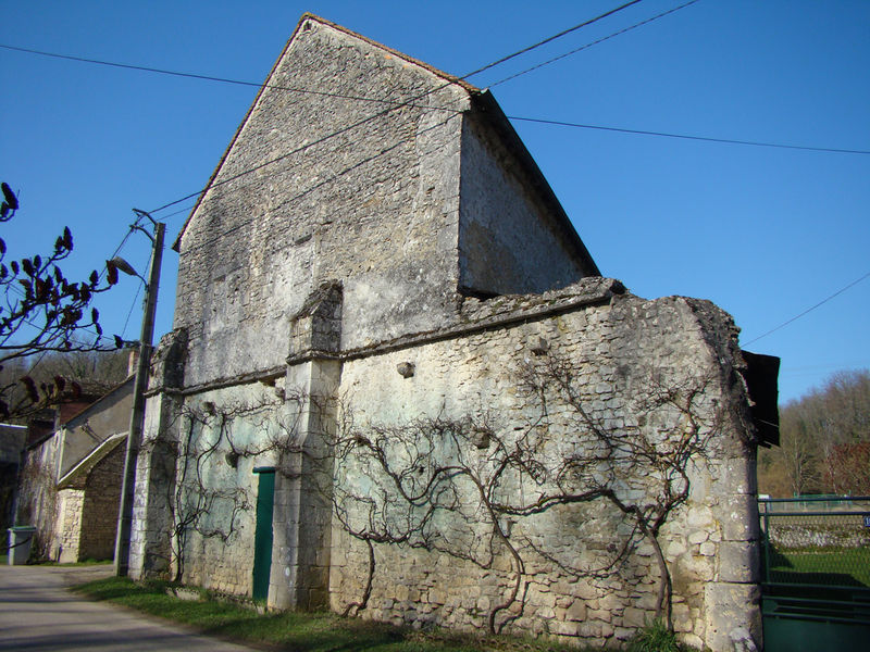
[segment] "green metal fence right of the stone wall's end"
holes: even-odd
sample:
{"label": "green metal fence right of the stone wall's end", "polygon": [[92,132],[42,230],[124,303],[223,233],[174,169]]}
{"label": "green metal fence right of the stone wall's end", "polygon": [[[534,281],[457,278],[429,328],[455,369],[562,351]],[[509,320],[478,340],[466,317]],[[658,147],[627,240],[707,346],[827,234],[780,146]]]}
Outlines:
{"label": "green metal fence right of the stone wall's end", "polygon": [[765,649],[815,651],[870,636],[870,497],[759,499]]}

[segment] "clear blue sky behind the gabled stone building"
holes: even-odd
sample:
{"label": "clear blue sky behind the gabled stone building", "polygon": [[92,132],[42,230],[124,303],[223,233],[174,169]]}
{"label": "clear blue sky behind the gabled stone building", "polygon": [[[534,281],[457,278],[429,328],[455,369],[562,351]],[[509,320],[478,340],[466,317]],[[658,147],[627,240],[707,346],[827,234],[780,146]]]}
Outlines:
{"label": "clear blue sky behind the gabled stone building", "polygon": [[[311,11],[463,75],[618,4],[0,1],[0,42],[261,83]],[[469,82],[485,88],[680,4],[644,0]],[[509,116],[870,150],[869,34],[861,0],[699,0],[493,92]],[[23,205],[2,237],[13,255],[33,254],[69,225],[70,275],[114,252],[134,206],[200,189],[256,93],[9,50],[0,85],[0,178]],[[870,272],[870,155],[514,127],[602,274],[646,298],[710,299],[742,342]],[[156,215],[170,241],[191,204]],[[144,273],[147,239],[121,254]],[[167,250],[158,335],[171,328],[176,265]],[[101,298],[107,333],[138,337],[136,291],[125,278]],[[870,366],[869,323],[870,278],[747,348],[782,356],[790,400]]]}

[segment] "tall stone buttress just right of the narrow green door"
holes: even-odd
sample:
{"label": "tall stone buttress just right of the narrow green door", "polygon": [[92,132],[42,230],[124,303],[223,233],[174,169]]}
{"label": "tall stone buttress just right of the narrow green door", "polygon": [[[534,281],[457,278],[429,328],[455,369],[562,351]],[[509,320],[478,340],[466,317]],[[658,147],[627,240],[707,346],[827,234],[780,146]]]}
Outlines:
{"label": "tall stone buttress just right of the narrow green door", "polygon": [[336,428],[341,286],[325,284],[290,322],[285,387],[300,392],[297,441],[275,478],[274,544],[269,604],[278,609],[328,606],[332,531],[330,440]]}

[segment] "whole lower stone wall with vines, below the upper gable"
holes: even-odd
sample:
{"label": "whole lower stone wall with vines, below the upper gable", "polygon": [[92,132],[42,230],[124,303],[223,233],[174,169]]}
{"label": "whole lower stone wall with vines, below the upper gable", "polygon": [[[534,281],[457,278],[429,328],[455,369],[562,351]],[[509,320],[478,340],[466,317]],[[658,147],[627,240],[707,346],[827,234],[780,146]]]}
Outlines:
{"label": "whole lower stone wall with vines, below the upper gable", "polygon": [[[591,279],[368,349],[300,338],[284,376],[152,390],[178,397],[146,428],[172,432],[176,502],[135,531],[182,552],[164,570],[251,594],[253,472],[273,466],[271,606],[616,644],[656,615],[666,568],[683,641],[761,640],[743,360],[709,302]],[[140,489],[144,510],[160,487]]]}

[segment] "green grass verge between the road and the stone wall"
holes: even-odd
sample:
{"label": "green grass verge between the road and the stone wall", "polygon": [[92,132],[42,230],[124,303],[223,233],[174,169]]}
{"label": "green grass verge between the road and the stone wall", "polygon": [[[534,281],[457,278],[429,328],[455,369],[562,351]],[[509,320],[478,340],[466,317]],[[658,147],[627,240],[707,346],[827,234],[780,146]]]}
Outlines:
{"label": "green grass verge between the road and the stone wall", "polygon": [[[133,582],[110,577],[76,587],[92,600],[107,601],[191,626],[239,642],[298,652],[579,652],[574,645],[509,637],[474,637],[444,630],[415,631],[332,613],[259,614],[202,592],[198,601],[166,593],[162,581]],[[587,650],[592,650],[588,648]]]}

